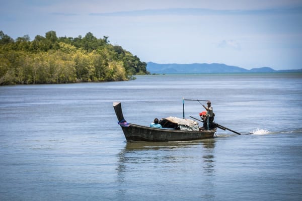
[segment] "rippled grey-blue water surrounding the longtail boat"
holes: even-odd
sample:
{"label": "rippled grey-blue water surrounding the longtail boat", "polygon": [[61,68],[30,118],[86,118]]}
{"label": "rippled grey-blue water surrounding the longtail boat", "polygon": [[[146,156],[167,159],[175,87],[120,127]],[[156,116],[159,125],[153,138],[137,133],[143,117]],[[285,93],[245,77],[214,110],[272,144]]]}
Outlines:
{"label": "rippled grey-blue water surrounding the longtail boat", "polygon": [[[209,140],[127,143],[210,99]],[[185,103],[187,118],[204,109]],[[302,200],[302,75],[159,75],[0,87],[0,200]]]}

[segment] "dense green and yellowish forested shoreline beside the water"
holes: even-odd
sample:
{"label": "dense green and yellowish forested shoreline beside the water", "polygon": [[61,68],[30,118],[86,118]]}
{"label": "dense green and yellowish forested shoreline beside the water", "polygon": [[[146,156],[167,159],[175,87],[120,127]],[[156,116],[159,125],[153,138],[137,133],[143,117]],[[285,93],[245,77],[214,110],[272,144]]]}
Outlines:
{"label": "dense green and yellowish forested shoreline beside the water", "polygon": [[0,85],[122,81],[148,74],[146,63],[112,45],[108,37],[45,37],[16,40],[0,31]]}

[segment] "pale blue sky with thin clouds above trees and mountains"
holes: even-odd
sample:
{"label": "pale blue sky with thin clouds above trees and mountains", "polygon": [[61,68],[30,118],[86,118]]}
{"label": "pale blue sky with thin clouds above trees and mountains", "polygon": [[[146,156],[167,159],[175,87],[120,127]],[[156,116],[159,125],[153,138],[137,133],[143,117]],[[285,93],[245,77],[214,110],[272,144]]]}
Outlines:
{"label": "pale blue sky with thin clouds above trees and mountains", "polygon": [[91,32],[144,62],[302,68],[302,0],[1,0],[0,30]]}

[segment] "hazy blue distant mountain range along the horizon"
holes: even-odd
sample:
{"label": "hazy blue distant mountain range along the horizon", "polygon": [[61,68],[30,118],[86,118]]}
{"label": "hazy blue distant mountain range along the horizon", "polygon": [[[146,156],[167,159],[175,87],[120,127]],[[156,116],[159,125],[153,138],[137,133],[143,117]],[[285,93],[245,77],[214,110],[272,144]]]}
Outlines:
{"label": "hazy blue distant mountain range along the horizon", "polygon": [[247,70],[238,66],[229,66],[221,63],[192,63],[192,64],[159,64],[147,62],[147,71],[157,74],[172,73],[263,73],[263,72],[302,72],[296,70],[274,70],[270,67],[253,68]]}

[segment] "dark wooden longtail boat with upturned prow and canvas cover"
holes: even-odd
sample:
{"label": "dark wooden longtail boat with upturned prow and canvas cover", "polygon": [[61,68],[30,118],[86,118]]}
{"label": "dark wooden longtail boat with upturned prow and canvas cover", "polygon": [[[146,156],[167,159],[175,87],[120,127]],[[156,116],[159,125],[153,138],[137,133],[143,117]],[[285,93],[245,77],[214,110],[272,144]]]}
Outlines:
{"label": "dark wooden longtail boat with upturned prow and canvas cover", "polygon": [[[122,112],[120,102],[114,102],[113,108],[118,119],[118,124],[121,126],[125,138],[127,141],[149,141],[149,142],[164,142],[164,141],[190,141],[213,138],[216,128],[211,130],[204,130],[203,128],[197,127],[196,129],[188,129],[188,125],[192,120],[181,119],[178,122],[174,120],[171,122],[170,119],[177,118],[166,118],[162,119],[160,124],[163,128],[152,128],[148,126],[141,126],[132,123],[128,123]],[[181,123],[181,122],[189,122]],[[193,121],[192,121],[193,122]],[[194,121],[195,122],[195,121]],[[196,122],[193,123],[196,127]],[[175,126],[178,125],[178,126]],[[197,124],[198,125],[198,124]],[[166,128],[167,126],[167,128]],[[182,129],[183,127],[184,129]]]}

